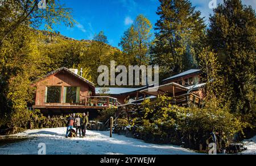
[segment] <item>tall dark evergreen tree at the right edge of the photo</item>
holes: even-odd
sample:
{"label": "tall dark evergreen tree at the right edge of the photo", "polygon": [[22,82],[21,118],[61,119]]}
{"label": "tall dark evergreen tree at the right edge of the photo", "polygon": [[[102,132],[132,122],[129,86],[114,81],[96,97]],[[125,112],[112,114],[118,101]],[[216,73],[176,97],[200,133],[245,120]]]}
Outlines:
{"label": "tall dark evergreen tree at the right edge of the photo", "polygon": [[230,86],[233,111],[255,110],[255,36],[255,11],[240,0],[224,1],[210,16],[208,40]]}

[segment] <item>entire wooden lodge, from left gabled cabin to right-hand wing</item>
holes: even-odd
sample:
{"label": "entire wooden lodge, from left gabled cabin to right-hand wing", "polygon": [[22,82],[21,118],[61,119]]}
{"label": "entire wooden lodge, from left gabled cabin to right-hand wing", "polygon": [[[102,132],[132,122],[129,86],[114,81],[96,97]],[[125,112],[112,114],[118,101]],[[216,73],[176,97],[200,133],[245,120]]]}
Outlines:
{"label": "entire wooden lodge, from left gabled cabin to right-hand wing", "polygon": [[[60,68],[34,81],[36,87],[35,105],[46,115],[83,113],[89,111],[96,118],[98,110],[125,105],[127,101],[139,104],[145,98],[154,100],[162,94],[174,97],[175,105],[201,106],[204,86],[200,82],[200,70],[188,70],[162,81],[157,87],[109,88],[108,95],[100,93],[100,88],[82,77],[82,69]],[[157,90],[152,90],[156,88]]]}

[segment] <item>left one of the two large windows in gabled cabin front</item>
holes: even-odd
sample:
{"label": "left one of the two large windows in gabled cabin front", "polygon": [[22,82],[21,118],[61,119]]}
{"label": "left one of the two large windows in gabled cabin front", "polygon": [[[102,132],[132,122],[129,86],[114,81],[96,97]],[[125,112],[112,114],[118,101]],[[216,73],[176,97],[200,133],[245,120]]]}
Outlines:
{"label": "left one of the two large windows in gabled cabin front", "polygon": [[46,103],[60,103],[61,86],[46,87]]}

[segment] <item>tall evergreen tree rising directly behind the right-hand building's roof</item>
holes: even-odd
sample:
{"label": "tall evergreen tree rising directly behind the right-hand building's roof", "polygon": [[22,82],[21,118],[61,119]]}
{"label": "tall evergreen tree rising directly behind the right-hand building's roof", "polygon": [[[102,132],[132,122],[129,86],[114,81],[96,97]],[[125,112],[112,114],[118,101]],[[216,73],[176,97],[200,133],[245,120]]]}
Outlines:
{"label": "tall evergreen tree rising directly behind the right-hand building's roof", "polygon": [[152,60],[162,76],[191,68],[196,44],[204,32],[204,20],[188,0],[159,0]]}

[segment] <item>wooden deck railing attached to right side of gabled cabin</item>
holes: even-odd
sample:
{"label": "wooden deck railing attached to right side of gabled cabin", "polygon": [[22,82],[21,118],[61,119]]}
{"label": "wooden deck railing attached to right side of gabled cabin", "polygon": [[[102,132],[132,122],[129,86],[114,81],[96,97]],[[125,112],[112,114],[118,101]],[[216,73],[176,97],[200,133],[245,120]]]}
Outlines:
{"label": "wooden deck railing attached to right side of gabled cabin", "polygon": [[84,105],[88,107],[118,106],[117,98],[109,96],[86,96],[83,100]]}

